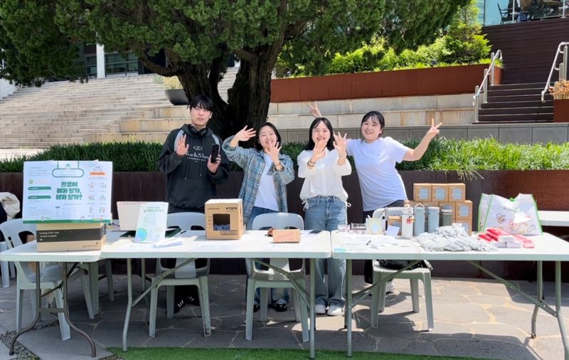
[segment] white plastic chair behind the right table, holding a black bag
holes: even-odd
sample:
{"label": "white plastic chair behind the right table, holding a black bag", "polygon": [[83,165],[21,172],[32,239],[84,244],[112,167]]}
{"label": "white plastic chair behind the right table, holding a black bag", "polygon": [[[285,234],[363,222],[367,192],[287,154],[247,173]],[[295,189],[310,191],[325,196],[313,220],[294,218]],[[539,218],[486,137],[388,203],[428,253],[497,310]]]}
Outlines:
{"label": "white plastic chair behind the right table, holding a black bag", "polygon": [[[373,211],[373,217],[379,218],[385,214],[388,216],[400,216],[403,208],[378,208]],[[373,260],[373,284],[380,282],[379,286],[373,288],[371,297],[371,326],[378,327],[378,312],[385,309],[385,280],[384,278],[393,275],[398,270],[391,270],[379,266],[378,260]],[[429,331],[435,328],[435,322],[432,316],[432,290],[431,290],[431,272],[427,268],[416,268],[400,272],[397,279],[409,279],[411,284],[411,301],[413,302],[413,312],[419,312],[419,280],[422,281],[425,288],[425,304],[427,306],[427,324]]]}

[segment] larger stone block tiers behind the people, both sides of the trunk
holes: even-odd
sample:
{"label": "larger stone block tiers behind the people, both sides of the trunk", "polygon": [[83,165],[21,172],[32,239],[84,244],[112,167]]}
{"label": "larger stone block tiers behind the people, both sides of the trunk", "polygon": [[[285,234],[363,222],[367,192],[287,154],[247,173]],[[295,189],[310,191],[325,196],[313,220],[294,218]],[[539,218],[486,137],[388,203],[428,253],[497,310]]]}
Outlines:
{"label": "larger stone block tiers behind the people, both sides of the trunk", "polygon": [[[308,104],[309,102],[270,104],[268,121],[281,130],[284,141],[306,141],[306,131],[314,120],[309,113]],[[470,125],[474,121],[472,94],[329,100],[319,102],[319,108],[335,129],[343,131],[359,129],[361,118],[370,110],[380,110],[385,117],[385,125],[390,128],[430,125],[431,119],[445,125]],[[90,134],[87,141],[137,139],[164,142],[171,129],[190,121],[188,110],[184,106],[156,107],[153,111],[154,115],[142,119],[123,120],[109,132]],[[358,136],[357,132],[349,135]]]}

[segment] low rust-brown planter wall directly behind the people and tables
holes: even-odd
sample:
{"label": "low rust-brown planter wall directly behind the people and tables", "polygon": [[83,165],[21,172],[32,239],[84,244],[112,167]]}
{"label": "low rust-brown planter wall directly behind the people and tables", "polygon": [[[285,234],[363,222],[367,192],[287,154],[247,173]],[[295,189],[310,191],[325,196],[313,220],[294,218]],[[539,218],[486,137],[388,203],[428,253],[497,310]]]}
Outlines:
{"label": "low rust-brown planter wall directly behind the people and tables", "polygon": [[[567,210],[569,208],[569,193],[567,179],[569,170],[541,170],[541,171],[479,171],[477,179],[463,181],[456,171],[401,171],[405,182],[407,194],[412,196],[413,183],[446,183],[465,182],[467,185],[467,199],[474,203],[474,219],[477,218],[480,195],[499,194],[504,197],[516,196],[519,193],[533,194],[538,208],[543,210]],[[22,198],[22,174],[0,173],[0,189],[16,194]],[[243,173],[233,172],[229,181],[219,186],[219,198],[235,198],[238,196]],[[295,179],[288,186],[289,211],[304,215],[302,203],[299,199],[302,179]],[[344,187],[349,194],[351,207],[348,210],[348,221],[360,223],[361,196],[357,174],[344,178]],[[164,201],[166,189],[166,176],[159,172],[119,172],[114,174],[112,186],[113,213],[117,213],[116,201]],[[567,228],[545,228],[550,233],[569,233]],[[475,268],[464,266],[464,262],[434,262],[435,276],[442,277],[484,277]],[[532,264],[529,262],[492,262],[484,264],[496,274],[511,279],[528,279],[533,276]],[[546,265],[546,276],[552,277],[553,268]],[[151,271],[149,265],[149,271]],[[238,270],[236,270],[238,269]],[[354,265],[354,272],[361,273],[362,263]],[[245,272],[243,261],[216,259],[212,261],[213,273]],[[569,275],[564,274],[565,276]],[[566,278],[566,277],[565,277]]]}

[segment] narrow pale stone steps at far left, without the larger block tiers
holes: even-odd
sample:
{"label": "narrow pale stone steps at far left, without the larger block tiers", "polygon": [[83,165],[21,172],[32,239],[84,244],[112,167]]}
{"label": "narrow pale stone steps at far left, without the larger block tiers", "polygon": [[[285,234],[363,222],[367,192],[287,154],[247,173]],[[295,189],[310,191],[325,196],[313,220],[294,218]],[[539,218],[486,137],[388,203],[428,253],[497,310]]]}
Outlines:
{"label": "narrow pale stone steps at far left, without the larger block tiers", "polygon": [[81,143],[122,120],[152,115],[169,104],[154,75],[55,82],[23,88],[0,101],[0,147],[43,148]]}

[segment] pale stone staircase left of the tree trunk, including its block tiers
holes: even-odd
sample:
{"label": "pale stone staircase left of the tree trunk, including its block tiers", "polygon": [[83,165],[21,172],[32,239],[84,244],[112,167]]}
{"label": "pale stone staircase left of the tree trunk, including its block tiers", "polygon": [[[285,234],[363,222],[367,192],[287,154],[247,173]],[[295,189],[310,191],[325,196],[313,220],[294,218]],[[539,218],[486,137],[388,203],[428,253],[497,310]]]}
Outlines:
{"label": "pale stone staircase left of the tree trunk, including its block tiers", "polygon": [[[227,100],[237,68],[219,84]],[[188,122],[185,106],[166,100],[154,75],[94,79],[88,83],[46,83],[23,88],[0,101],[3,148],[112,141],[163,142],[171,129]]]}

